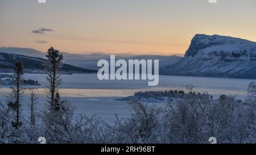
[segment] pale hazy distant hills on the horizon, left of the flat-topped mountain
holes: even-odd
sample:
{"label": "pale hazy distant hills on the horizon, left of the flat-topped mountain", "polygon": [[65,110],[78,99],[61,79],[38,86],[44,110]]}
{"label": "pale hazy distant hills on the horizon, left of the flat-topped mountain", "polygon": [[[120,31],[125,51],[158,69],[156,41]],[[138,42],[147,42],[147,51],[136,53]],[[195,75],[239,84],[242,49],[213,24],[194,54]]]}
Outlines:
{"label": "pale hazy distant hills on the horizon, left of the flat-topped mountain", "polygon": [[[0,47],[1,53],[15,53],[19,55],[27,55],[32,57],[40,57],[45,58],[46,53],[37,51],[32,48],[18,48],[18,47]],[[98,60],[106,59],[110,60],[110,55],[108,53],[96,52],[87,55],[79,55],[79,54],[72,54],[68,52],[61,52],[64,56],[64,63],[71,64],[73,66],[77,66],[80,68],[86,69],[99,69],[97,67]],[[117,59],[158,59],[159,60],[159,67],[162,66],[172,65],[182,57],[179,56],[161,56],[161,55],[130,55],[130,54],[117,54],[115,55]]]}

